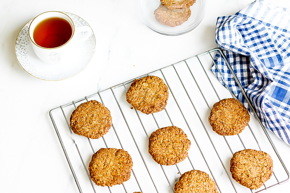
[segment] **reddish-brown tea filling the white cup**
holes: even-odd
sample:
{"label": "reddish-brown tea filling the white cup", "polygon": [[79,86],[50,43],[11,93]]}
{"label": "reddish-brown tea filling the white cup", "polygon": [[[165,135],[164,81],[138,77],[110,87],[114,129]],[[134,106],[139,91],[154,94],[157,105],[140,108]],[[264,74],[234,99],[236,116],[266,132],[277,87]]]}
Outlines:
{"label": "reddish-brown tea filling the white cup", "polygon": [[65,19],[52,17],[41,21],[35,27],[33,38],[35,43],[45,48],[64,45],[72,36],[73,30]]}

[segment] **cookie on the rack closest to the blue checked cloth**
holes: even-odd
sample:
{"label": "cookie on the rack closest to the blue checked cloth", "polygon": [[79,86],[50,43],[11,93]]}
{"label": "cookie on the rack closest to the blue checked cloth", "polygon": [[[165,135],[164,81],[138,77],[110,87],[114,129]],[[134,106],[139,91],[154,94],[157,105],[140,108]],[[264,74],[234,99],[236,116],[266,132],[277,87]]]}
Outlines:
{"label": "cookie on the rack closest to the blue checked cloth", "polygon": [[219,135],[237,135],[250,121],[248,110],[235,98],[216,102],[209,115],[209,124]]}

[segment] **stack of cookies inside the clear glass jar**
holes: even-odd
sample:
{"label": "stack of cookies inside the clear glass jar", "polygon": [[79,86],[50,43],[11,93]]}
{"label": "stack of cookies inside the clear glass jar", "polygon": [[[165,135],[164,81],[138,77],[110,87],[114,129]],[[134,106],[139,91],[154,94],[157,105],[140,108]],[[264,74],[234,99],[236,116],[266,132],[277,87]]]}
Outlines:
{"label": "stack of cookies inside the clear glass jar", "polygon": [[160,0],[161,4],[154,11],[155,19],[170,27],[181,25],[191,15],[190,6],[195,0]]}

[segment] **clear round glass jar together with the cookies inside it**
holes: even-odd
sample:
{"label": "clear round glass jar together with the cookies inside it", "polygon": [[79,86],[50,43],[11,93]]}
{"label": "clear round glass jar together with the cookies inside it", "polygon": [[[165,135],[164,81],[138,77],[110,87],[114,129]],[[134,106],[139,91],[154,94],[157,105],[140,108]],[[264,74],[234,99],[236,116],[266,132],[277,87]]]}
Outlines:
{"label": "clear round glass jar together with the cookies inside it", "polygon": [[[162,3],[160,0],[139,0],[142,21],[150,29],[160,34],[170,36],[185,34],[197,27],[204,17],[205,0],[161,1]],[[195,3],[189,3],[193,1]],[[190,4],[192,5],[190,6]]]}

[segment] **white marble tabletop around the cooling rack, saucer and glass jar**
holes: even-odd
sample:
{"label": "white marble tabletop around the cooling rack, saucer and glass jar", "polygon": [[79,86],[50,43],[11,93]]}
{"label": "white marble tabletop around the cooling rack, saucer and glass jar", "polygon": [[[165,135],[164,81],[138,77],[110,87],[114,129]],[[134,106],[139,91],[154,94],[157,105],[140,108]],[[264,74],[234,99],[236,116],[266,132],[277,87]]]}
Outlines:
{"label": "white marble tabletop around the cooling rack, saucer and glass jar", "polygon": [[[0,2],[0,192],[78,192],[50,121],[50,109],[206,51],[215,44],[218,16],[234,14],[251,0],[207,0],[202,23],[181,36],[164,36],[146,27],[137,1]],[[286,7],[290,3],[276,1]],[[50,10],[85,19],[96,36],[96,52],[77,76],[44,81],[17,63],[15,38],[34,16]],[[271,135],[286,166],[289,146]],[[290,183],[267,192],[288,192]]]}

